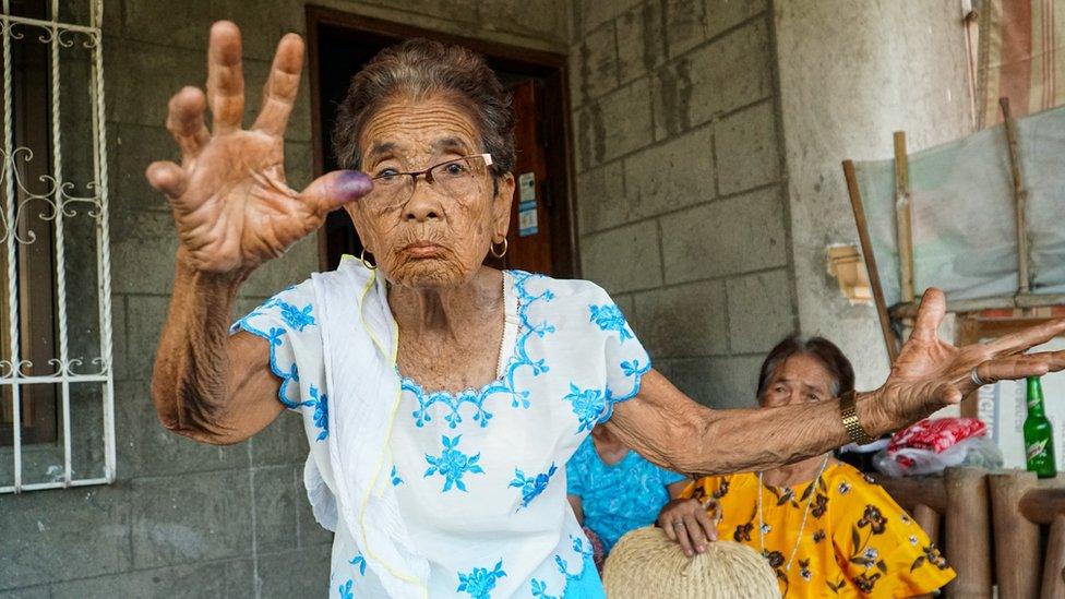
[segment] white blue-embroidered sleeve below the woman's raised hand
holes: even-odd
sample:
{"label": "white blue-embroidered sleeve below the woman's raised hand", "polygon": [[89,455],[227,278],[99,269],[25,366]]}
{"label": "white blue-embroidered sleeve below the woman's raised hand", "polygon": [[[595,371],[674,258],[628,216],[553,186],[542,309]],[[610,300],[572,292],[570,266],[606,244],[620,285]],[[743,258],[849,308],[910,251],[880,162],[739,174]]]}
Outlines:
{"label": "white blue-embroidered sleeve below the woman's raised hand", "polygon": [[322,337],[310,281],[270,298],[229,330],[230,334],[240,331],[268,344],[270,369],[282,381],[277,398],[285,407],[298,409],[323,403],[322,384],[316,381],[324,370]]}

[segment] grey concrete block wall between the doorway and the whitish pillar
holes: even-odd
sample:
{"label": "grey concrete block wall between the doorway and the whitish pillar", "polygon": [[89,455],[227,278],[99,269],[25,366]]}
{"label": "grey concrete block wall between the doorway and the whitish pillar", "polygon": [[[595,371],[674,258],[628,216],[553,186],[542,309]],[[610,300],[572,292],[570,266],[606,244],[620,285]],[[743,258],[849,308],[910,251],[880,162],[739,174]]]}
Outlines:
{"label": "grey concrete block wall between the doorway and the whitish pillar", "polygon": [[682,391],[753,405],[798,324],[768,2],[572,10],[583,276]]}

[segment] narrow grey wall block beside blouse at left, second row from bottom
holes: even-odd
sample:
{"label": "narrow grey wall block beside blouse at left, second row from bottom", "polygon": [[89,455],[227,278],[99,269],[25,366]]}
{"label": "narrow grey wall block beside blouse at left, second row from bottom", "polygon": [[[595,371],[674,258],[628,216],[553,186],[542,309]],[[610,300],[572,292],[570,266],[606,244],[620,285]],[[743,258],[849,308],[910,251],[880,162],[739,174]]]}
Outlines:
{"label": "narrow grey wall block beside blouse at left, second row from bottom", "polygon": [[300,496],[292,478],[292,467],[252,468],[251,476],[255,489],[256,550],[295,549],[299,543],[296,502]]}

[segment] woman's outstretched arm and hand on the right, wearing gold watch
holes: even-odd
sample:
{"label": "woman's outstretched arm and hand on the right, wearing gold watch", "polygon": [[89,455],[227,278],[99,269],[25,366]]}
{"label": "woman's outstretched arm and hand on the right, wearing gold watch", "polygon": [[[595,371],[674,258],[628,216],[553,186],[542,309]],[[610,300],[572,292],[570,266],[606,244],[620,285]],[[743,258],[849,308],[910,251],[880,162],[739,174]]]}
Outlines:
{"label": "woman's outstretched arm and hand on the right, wearing gold watch", "polygon": [[[1065,369],[1065,351],[1024,354],[1060,335],[1065,321],[956,348],[936,335],[945,307],[942,291],[930,289],[888,380],[876,391],[858,394],[858,418],[869,434],[879,436],[960,402],[977,388],[970,376],[973,369],[984,383]],[[850,441],[839,399],[714,410],[690,399],[656,371],[644,376],[636,397],[615,406],[607,426],[647,459],[696,476],[773,468]]]}

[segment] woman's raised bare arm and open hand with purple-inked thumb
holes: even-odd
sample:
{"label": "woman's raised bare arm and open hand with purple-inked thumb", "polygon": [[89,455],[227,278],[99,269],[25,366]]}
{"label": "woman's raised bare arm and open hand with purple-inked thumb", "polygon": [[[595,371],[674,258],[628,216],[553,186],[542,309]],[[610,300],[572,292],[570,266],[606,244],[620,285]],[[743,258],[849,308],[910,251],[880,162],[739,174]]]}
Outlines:
{"label": "woman's raised bare arm and open hand with purple-inked thumb", "polygon": [[[299,36],[289,34],[278,44],[262,108],[247,130],[241,128],[244,80],[236,25],[212,26],[207,56],[206,94],[186,87],[170,99],[167,129],[181,149],[181,164],[153,163],[146,173],[166,194],[180,239],[152,399],[171,431],[236,443],[283,409],[267,342],[228,334],[240,284],[372,185],[355,171],[330,172],[302,192],[286,183],[284,134],[303,67]],[[213,131],[205,124],[208,106]]]}

